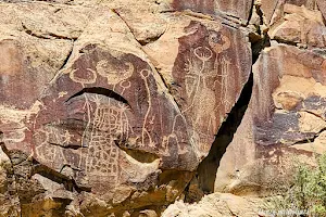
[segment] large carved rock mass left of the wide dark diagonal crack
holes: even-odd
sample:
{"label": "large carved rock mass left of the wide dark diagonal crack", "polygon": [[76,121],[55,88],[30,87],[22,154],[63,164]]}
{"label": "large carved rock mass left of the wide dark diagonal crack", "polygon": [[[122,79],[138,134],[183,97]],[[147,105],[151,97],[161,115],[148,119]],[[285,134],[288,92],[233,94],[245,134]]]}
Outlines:
{"label": "large carved rock mass left of the wide dark diagonal crack", "polygon": [[20,212],[160,214],[248,81],[247,35],[164,2],[61,3],[0,5],[16,16],[1,23],[0,131]]}

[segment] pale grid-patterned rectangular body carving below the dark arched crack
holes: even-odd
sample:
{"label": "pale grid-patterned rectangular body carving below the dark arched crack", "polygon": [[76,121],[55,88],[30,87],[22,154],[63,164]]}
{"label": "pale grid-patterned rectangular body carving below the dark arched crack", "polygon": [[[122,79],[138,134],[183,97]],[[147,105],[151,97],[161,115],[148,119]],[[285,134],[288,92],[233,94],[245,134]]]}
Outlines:
{"label": "pale grid-patterned rectangular body carving below the dark arched crack", "polygon": [[86,156],[86,171],[89,175],[111,177],[110,180],[116,183],[120,149],[114,141],[128,137],[128,107],[124,103],[111,103],[111,99],[93,97],[89,100],[96,103],[96,108]]}

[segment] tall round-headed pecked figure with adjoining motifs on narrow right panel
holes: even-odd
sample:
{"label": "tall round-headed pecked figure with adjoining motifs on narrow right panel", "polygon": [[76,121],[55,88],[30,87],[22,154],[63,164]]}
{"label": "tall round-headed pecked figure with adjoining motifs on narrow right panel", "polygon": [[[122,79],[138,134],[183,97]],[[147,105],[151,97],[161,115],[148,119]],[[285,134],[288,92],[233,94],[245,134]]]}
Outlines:
{"label": "tall round-headed pecked figure with adjoining motifs on narrow right panel", "polygon": [[[205,149],[205,145],[202,146],[204,144],[202,138],[205,135],[214,133],[217,129],[216,110],[222,104],[224,105],[224,110],[230,107],[230,102],[227,99],[230,62],[227,58],[220,56],[229,47],[230,40],[227,36],[215,31],[210,33],[209,46],[199,46],[191,49],[190,56],[185,66],[185,90],[188,103],[187,107],[181,111],[181,114],[175,117],[173,131],[176,119],[183,116],[183,114],[190,111],[191,114],[196,114],[189,115],[190,122],[195,127],[195,130],[190,132],[190,139],[192,143],[198,144],[199,152]],[[214,58],[215,60],[213,60]],[[214,86],[211,84],[212,80]],[[220,99],[216,98],[218,95],[216,89],[220,90]],[[165,142],[175,138],[172,135],[171,138],[165,138]]]}

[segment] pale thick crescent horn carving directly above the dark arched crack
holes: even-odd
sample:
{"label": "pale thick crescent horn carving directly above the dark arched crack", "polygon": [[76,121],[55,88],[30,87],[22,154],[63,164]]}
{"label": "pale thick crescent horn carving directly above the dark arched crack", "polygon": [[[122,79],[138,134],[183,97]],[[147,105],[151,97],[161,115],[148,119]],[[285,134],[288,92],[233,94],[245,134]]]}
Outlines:
{"label": "pale thick crescent horn carving directly above the dark arched crack", "polygon": [[131,63],[124,63],[124,66],[126,68],[124,67],[117,71],[117,68],[113,67],[108,61],[101,60],[97,64],[97,71],[101,76],[108,78],[109,85],[117,85],[129,78],[135,71],[135,66]]}

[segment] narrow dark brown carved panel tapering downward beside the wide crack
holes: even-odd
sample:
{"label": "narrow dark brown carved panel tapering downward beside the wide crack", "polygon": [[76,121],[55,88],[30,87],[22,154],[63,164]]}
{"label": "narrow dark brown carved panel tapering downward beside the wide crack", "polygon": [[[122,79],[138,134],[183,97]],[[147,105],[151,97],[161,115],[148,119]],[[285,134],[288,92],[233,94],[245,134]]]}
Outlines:
{"label": "narrow dark brown carved panel tapering downward beside the wide crack", "polygon": [[192,127],[191,139],[203,156],[209,152],[221,124],[237,101],[250,68],[237,62],[250,60],[248,48],[235,40],[246,40],[223,27],[210,28],[192,21],[180,37],[179,53],[173,67],[173,88],[181,114]]}

